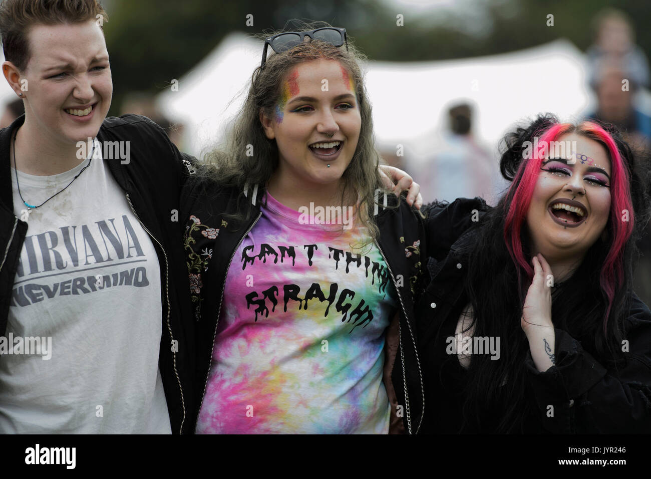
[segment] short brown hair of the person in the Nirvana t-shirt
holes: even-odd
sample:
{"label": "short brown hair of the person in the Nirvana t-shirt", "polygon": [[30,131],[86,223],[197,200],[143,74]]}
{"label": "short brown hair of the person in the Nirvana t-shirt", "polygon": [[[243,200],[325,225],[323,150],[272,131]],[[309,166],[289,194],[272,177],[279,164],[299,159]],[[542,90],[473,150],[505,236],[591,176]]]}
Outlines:
{"label": "short brown hair of the person in the Nirvana t-shirt", "polygon": [[5,60],[18,70],[27,68],[30,57],[27,31],[32,25],[81,23],[98,15],[102,15],[102,22],[108,22],[99,0],[4,0],[0,4],[0,36]]}

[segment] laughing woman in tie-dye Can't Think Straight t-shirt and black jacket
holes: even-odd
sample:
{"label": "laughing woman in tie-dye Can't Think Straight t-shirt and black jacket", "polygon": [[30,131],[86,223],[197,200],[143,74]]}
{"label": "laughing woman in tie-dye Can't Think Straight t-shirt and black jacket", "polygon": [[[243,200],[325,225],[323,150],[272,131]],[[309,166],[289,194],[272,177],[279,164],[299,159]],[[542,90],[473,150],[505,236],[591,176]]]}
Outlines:
{"label": "laughing woman in tie-dye Can't Think Straight t-shirt and black jacket", "polygon": [[197,433],[420,428],[423,224],[378,170],[361,58],[329,25],[265,38],[184,194]]}

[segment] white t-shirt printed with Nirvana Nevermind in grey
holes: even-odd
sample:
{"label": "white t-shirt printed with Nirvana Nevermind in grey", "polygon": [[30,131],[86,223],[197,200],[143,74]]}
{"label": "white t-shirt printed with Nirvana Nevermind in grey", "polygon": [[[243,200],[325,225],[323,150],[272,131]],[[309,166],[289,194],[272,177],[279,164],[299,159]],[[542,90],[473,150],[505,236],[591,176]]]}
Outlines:
{"label": "white t-shirt printed with Nirvana Nevermind in grey", "polygon": [[[19,171],[20,192],[40,205],[87,164],[47,177]],[[105,162],[92,159],[27,222],[0,342],[0,433],[171,433],[158,257]],[[23,354],[7,354],[12,345]]]}

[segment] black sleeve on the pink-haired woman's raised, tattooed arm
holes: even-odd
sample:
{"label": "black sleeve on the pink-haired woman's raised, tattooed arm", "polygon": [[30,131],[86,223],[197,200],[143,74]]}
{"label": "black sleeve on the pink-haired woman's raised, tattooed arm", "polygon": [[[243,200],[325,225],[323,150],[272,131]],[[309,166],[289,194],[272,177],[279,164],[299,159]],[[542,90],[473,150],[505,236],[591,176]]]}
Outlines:
{"label": "black sleeve on the pink-haired woman's raised, tattooed arm", "polygon": [[[551,433],[651,431],[651,312],[633,298],[624,328],[624,361],[598,361],[568,332],[555,330],[556,365],[525,361],[536,405]],[[611,364],[612,363],[612,364]]]}

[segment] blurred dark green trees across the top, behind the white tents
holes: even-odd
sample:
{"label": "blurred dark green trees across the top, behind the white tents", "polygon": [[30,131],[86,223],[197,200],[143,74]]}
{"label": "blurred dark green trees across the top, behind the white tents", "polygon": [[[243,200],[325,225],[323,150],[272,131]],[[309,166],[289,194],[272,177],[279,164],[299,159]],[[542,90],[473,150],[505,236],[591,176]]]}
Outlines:
{"label": "blurred dark green trees across the top, behind the white tents", "polygon": [[[376,60],[423,61],[521,50],[568,38],[585,50],[594,38],[590,20],[604,7],[631,16],[637,44],[651,51],[648,0],[483,0],[477,8],[401,12],[391,0],[109,0],[105,25],[115,96],[111,114],[130,91],[158,93],[205,57],[230,31],[260,33],[288,20],[311,18],[346,27],[357,46]],[[404,13],[404,26],[396,15]],[[247,27],[253,14],[253,27]],[[553,27],[547,26],[553,14]]]}

